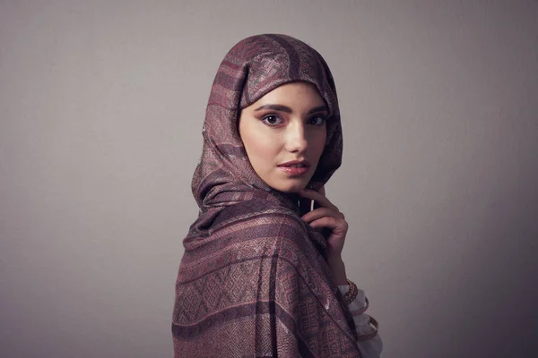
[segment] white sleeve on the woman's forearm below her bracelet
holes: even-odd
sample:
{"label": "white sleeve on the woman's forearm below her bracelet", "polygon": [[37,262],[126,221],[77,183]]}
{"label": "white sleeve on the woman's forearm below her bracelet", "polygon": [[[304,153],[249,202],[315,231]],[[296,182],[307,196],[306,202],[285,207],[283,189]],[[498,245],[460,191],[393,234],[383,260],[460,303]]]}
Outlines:
{"label": "white sleeve on the woman's forearm below her bracelet", "polygon": [[[350,286],[338,286],[338,289],[340,290],[341,294],[347,294],[347,292],[350,290]],[[358,289],[358,291],[359,293],[357,294],[357,297],[352,303],[348,304],[348,308],[351,315],[353,315],[355,327],[357,328],[357,334],[360,336],[372,333],[376,330],[376,328],[370,326],[370,317],[368,314],[364,313],[364,308],[366,306],[366,295],[364,294],[364,291],[360,289]],[[360,311],[362,312],[360,313]],[[359,339],[357,345],[359,345],[359,350],[363,358],[378,358],[381,356],[381,352],[383,351],[383,342],[381,341],[381,337],[379,337],[378,332],[376,336],[368,340]]]}

